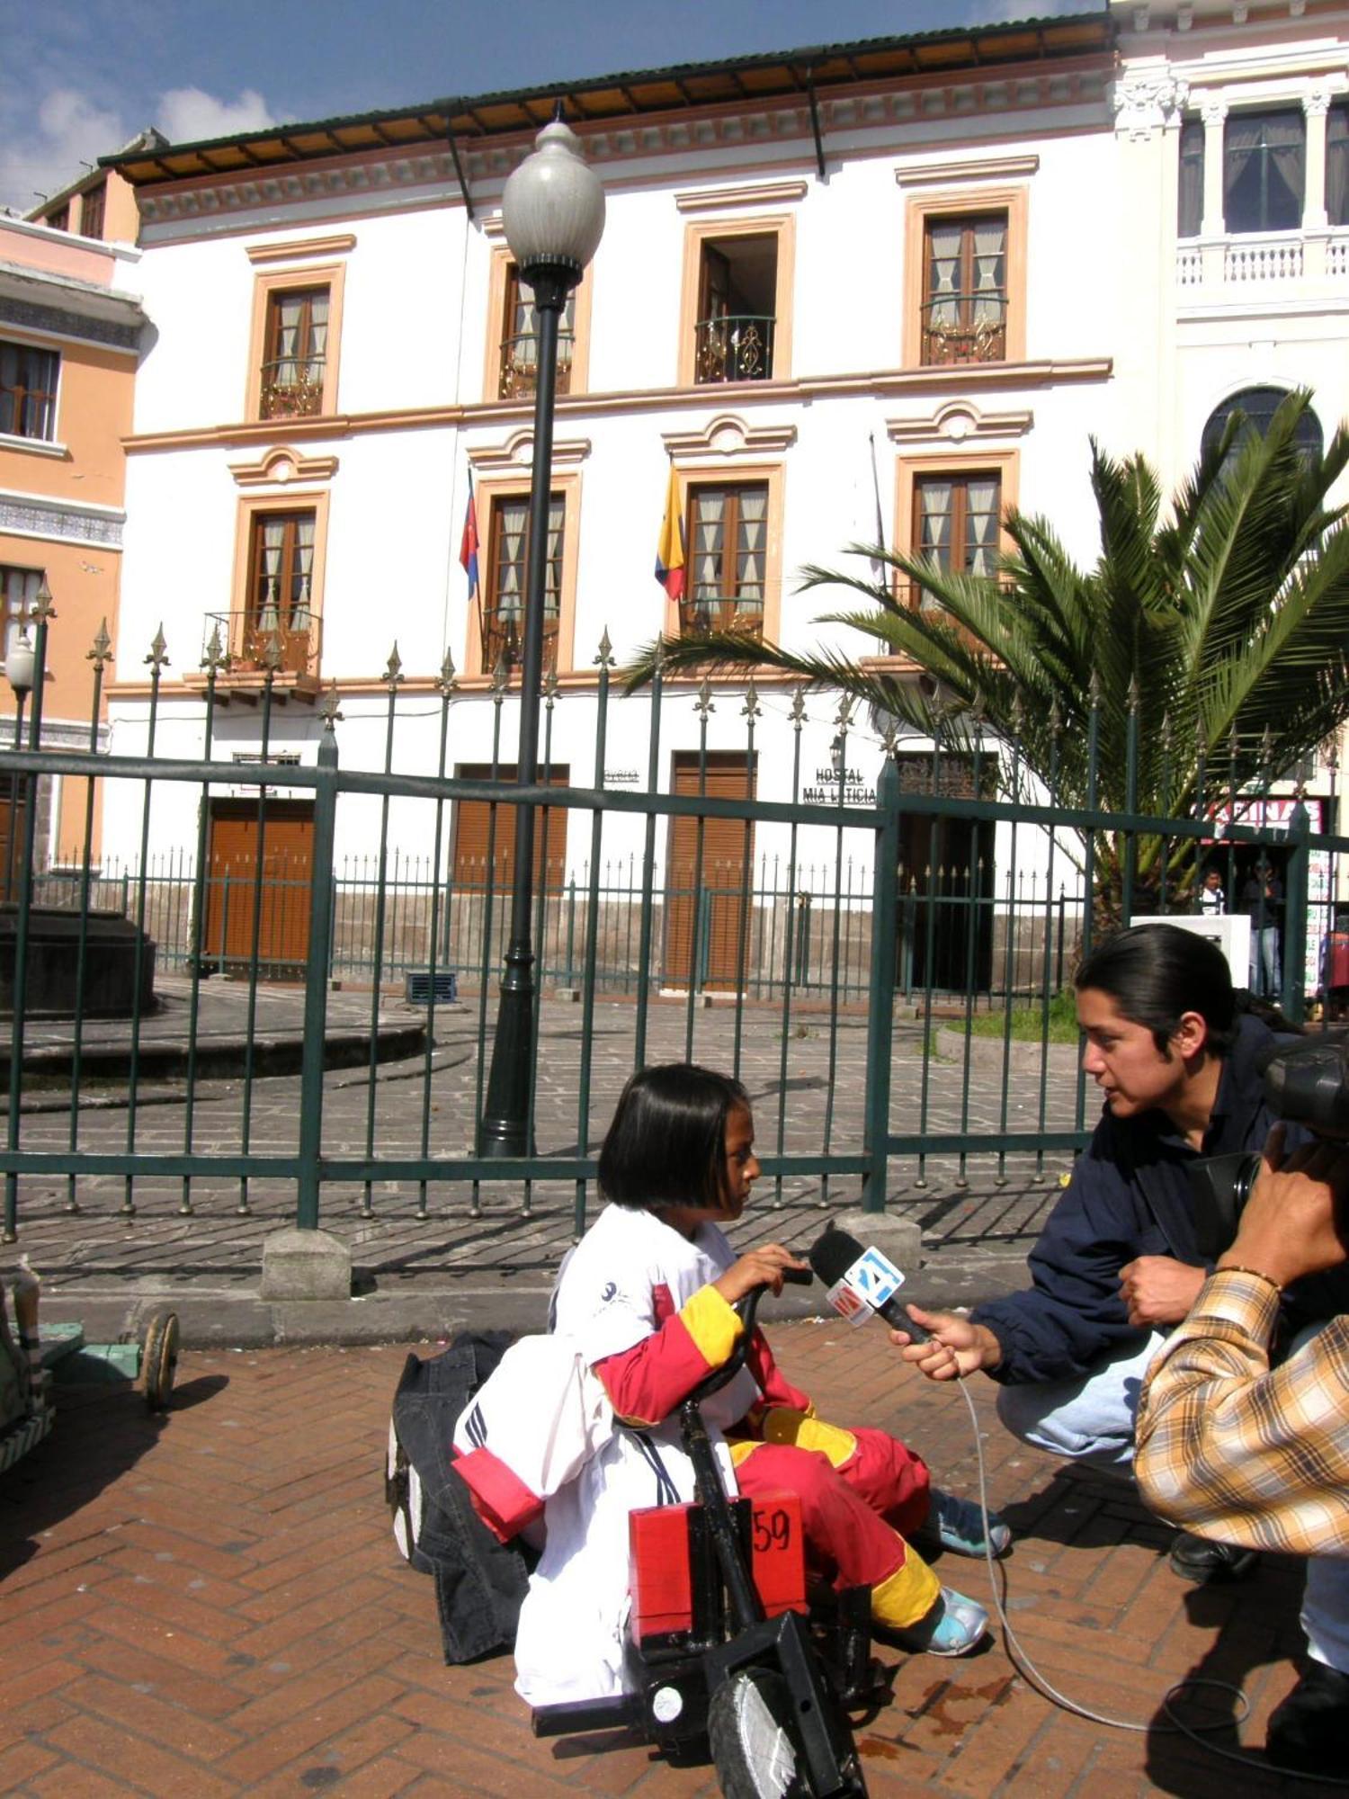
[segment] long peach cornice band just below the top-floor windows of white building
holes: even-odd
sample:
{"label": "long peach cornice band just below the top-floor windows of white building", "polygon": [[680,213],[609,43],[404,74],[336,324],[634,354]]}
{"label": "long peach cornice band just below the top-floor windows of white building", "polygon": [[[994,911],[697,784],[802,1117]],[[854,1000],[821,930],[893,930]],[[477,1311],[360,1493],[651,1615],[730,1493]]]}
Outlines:
{"label": "long peach cornice band just below the top-floor windows of white building", "polygon": [[[975,362],[948,363],[923,369],[869,369],[856,374],[802,376],[795,381],[734,381],[718,389],[718,396],[750,405],[799,405],[804,399],[847,399],[865,396],[880,399],[885,394],[948,394],[969,389],[1023,389],[1061,387],[1068,381],[1108,381],[1115,363],[1110,356],[1065,356],[1038,362]],[[666,408],[703,408],[714,394],[707,387],[642,387],[612,394],[559,394],[558,417],[612,417],[615,414],[655,412]],[[354,412],[320,419],[288,419],[286,432],[299,437],[356,437],[365,432],[444,430],[446,426],[478,426],[500,421],[522,426],[518,435],[529,437],[534,416],[532,399],[487,399],[480,405],[417,407],[399,412]],[[266,421],[252,425],[209,425],[200,430],[146,432],[124,437],[128,455],[146,455],[162,450],[228,448],[230,444],[270,444],[273,426]],[[585,439],[588,444],[588,439]],[[500,452],[495,452],[500,453]],[[554,452],[558,453],[558,452]]]}

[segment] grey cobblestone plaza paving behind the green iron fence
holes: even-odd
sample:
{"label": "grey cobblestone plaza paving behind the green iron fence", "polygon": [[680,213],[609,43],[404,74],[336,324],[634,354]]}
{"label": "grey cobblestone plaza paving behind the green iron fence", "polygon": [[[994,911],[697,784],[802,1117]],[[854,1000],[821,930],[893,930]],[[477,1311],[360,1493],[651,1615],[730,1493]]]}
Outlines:
{"label": "grey cobblestone plaza paving behind the green iron fence", "polygon": [[[183,1042],[185,988],[165,986],[165,1007],[146,1022],[146,1042],[165,1056]],[[246,986],[203,984],[205,1040],[221,1054],[243,1042]],[[489,1022],[491,1022],[489,1004]],[[401,1000],[385,995],[372,1007],[369,993],[329,995],[329,1034],[371,1033],[405,1042],[410,1024],[424,1024]],[[257,995],[257,1031],[272,1054],[299,1043],[302,995],[297,989],[264,988]],[[581,1009],[549,1000],[543,1006],[540,1047],[538,1142],[545,1153],[576,1151]],[[635,1011],[631,1004],[604,1000],[595,1007],[592,1101],[588,1144],[603,1137],[619,1088],[633,1063]],[[736,1020],[728,1007],[696,1009],[678,1002],[655,1004],[649,1015],[648,1060],[685,1054],[692,1029],[692,1054],[728,1067],[736,1056]],[[430,1069],[424,1056],[403,1054],[374,1069],[358,1056],[356,1067],[331,1069],[324,1088],[324,1153],[351,1157],[367,1141],[381,1157],[421,1151],[423,1106],[428,1106],[432,1153],[464,1155],[477,1114],[478,1006],[469,998],[441,1007],[435,1015],[435,1045]],[[90,1027],[90,1036],[108,1058],[128,1038],[126,1024]],[[68,1049],[68,1025],[34,1025],[29,1043],[43,1054]],[[995,1054],[996,1054],[996,1045]],[[1045,1078],[1045,1117],[1052,1126],[1074,1123],[1076,1081],[1065,1070],[1065,1052]],[[784,1040],[781,1015],[773,1009],[745,1013],[741,1070],[755,1101],[759,1148],[818,1151],[826,1141],[835,1150],[856,1153],[862,1144],[865,1067],[865,1018],[845,1015],[831,1042],[827,1018],[799,1013]],[[1072,1052],[1067,1052],[1070,1065]],[[784,1072],[786,1065],[786,1072]],[[1038,1052],[1007,1081],[1000,1063],[989,1070],[932,1058],[925,1067],[923,1031],[899,1022],[894,1043],[892,1128],[912,1132],[926,1117],[928,1130],[995,1133],[1034,1130],[1040,1119],[1041,1074]],[[214,1076],[198,1087],[192,1117],[192,1148],[227,1155],[245,1141],[257,1151],[295,1153],[299,1128],[299,1076],[263,1076],[252,1083],[245,1137],[245,1083]],[[926,1110],[925,1110],[926,1108]],[[1088,1097],[1088,1108],[1094,1103]],[[25,1088],[20,1119],[25,1150],[63,1151],[70,1142],[68,1083],[45,1078]],[[185,1146],[183,1081],[155,1076],[137,1092],[135,1114],[128,1105],[124,1078],[104,1072],[81,1092],[77,1119],[81,1150],[124,1151],[135,1146],[151,1153],[174,1153]],[[892,1162],[890,1209],[921,1223],[928,1270],[919,1275],[916,1297],[968,1299],[1020,1279],[1023,1258],[1047,1205],[1058,1191],[1063,1155],[1043,1166],[1032,1157],[980,1151],[962,1166],[957,1157]],[[147,1304],[173,1299],[183,1311],[189,1337],[214,1335],[225,1342],[273,1340],[295,1335],[302,1320],[263,1317],[254,1304],[261,1245],[270,1231],[293,1222],[291,1182],[252,1180],[245,1198],[234,1178],[196,1178],[191,1214],[182,1211],[178,1178],[138,1177],[133,1211],[126,1211],[121,1177],[81,1177],[79,1213],[67,1211],[68,1189],[61,1177],[20,1180],[20,1241],[47,1283],[50,1317],[81,1315],[90,1335],[121,1335],[135,1329],[137,1313]],[[482,1295],[493,1295],[522,1322],[532,1320],[550,1275],[576,1229],[576,1187],[568,1182],[536,1184],[525,1207],[518,1184],[484,1184],[477,1195],[464,1182],[433,1182],[424,1195],[424,1216],[415,1184],[376,1180],[369,1195],[360,1186],[324,1187],[322,1223],[342,1236],[353,1252],[360,1304],[351,1308],[349,1333],[385,1338],[421,1335],[473,1315]],[[856,1177],[835,1177],[827,1193],[818,1182],[784,1177],[781,1193],[761,1182],[755,1205],[741,1227],[743,1240],[777,1236],[790,1243],[809,1241],[824,1209],[856,1205]],[[779,1204],[781,1202],[781,1204]],[[594,1205],[594,1195],[590,1196]],[[13,1252],[11,1252],[13,1254]],[[0,1252],[0,1268],[4,1268]],[[221,1322],[232,1310],[232,1322]],[[318,1335],[333,1340],[333,1322]]]}

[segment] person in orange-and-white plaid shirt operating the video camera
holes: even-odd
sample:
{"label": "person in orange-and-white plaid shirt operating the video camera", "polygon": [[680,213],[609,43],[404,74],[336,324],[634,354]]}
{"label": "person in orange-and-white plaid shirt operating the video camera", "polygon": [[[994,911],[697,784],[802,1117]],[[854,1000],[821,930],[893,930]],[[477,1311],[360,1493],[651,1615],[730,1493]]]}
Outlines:
{"label": "person in orange-and-white plaid shirt operating the video camera", "polygon": [[[1309,1569],[1349,1558],[1349,1315],[1308,1328],[1270,1365],[1284,1288],[1347,1259],[1349,1146],[1311,1142],[1284,1162],[1275,1126],[1232,1247],[1144,1382],[1133,1472],[1162,1517],[1313,1556]],[[1266,1747],[1284,1767],[1344,1774],[1349,1662],[1315,1639],[1309,1655]]]}

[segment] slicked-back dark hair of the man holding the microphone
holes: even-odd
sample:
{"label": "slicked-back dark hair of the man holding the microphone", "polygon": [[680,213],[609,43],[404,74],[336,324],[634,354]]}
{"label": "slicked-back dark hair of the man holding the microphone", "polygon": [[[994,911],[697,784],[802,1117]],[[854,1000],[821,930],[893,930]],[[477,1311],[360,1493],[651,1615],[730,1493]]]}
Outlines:
{"label": "slicked-back dark hair of the man holding the microphone", "polygon": [[1153,1033],[1164,1056],[1182,1015],[1209,1025],[1207,1047],[1225,1056],[1236,1036],[1236,993],[1227,957],[1209,937],[1180,925],[1131,925],[1090,950],[1072,977],[1081,993],[1108,993],[1133,1024]]}

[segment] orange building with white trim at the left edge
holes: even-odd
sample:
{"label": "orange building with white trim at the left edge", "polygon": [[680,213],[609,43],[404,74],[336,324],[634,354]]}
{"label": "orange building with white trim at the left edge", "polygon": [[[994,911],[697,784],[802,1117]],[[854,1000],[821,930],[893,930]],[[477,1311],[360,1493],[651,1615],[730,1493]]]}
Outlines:
{"label": "orange building with white trim at the left edge", "polygon": [[[95,203],[97,180],[81,187],[67,196],[67,218],[90,209],[90,227],[101,212],[104,230],[133,234],[135,205],[130,219],[117,210],[131,200],[126,183],[115,194],[110,185]],[[104,738],[103,718],[94,720],[88,651],[104,621],[117,640],[122,437],[131,430],[146,324],[130,291],[138,257],[128,241],[0,219],[0,660],[45,581],[56,617],[43,748],[88,748],[95,723],[99,745]],[[14,712],[14,693],[0,678],[0,743],[13,741]],[[38,783],[36,869],[79,860],[85,804],[81,781]],[[11,817],[0,804],[0,835]]]}

